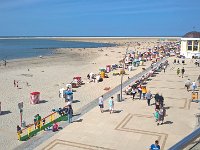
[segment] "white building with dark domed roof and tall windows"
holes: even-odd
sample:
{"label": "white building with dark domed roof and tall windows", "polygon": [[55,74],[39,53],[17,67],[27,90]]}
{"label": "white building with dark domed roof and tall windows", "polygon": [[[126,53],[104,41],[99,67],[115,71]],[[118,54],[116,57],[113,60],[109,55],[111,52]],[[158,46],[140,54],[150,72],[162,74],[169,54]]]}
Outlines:
{"label": "white building with dark domed roof and tall windows", "polygon": [[200,32],[188,32],[181,38],[180,54],[186,58],[200,57]]}

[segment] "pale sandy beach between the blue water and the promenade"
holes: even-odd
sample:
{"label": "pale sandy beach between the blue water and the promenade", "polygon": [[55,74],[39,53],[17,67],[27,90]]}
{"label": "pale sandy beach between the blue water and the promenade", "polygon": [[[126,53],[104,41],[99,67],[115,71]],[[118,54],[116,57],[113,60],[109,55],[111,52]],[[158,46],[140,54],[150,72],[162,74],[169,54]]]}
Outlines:
{"label": "pale sandy beach between the blue water and the promenade", "polygon": [[[85,41],[93,41],[87,39]],[[16,126],[20,124],[20,114],[18,103],[23,102],[23,120],[26,124],[33,123],[33,117],[40,114],[42,117],[50,114],[53,108],[66,105],[64,99],[59,98],[59,89],[65,88],[74,76],[81,76],[85,83],[74,92],[74,100],[80,102],[73,104],[74,111],[83,107],[93,99],[104,94],[105,87],[113,89],[120,84],[120,76],[108,74],[109,78],[101,83],[88,83],[87,74],[90,72],[99,73],[99,68],[108,64],[118,64],[126,53],[127,45],[129,50],[144,52],[148,48],[157,46],[158,39],[95,39],[95,42],[107,42],[118,44],[116,47],[104,48],[76,48],[58,49],[52,56],[43,58],[29,58],[8,61],[6,67],[0,66],[0,149],[14,149],[20,145],[17,140]],[[139,45],[139,42],[141,45]],[[145,66],[139,66],[134,71],[127,71],[124,81],[128,77],[142,71],[142,67],[150,66],[151,62],[146,62]],[[19,87],[14,87],[14,80],[18,81]],[[27,84],[28,83],[28,84]],[[30,93],[41,92],[41,103],[30,104]],[[12,142],[12,145],[9,144]]]}

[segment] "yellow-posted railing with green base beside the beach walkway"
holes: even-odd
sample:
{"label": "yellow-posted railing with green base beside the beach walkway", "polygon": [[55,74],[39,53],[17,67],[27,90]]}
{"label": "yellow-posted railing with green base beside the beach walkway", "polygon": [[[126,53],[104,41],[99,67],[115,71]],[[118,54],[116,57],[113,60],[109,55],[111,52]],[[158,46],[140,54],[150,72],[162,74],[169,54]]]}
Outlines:
{"label": "yellow-posted railing with green base beside the beach walkway", "polygon": [[60,122],[63,120],[67,120],[67,116],[60,116],[57,112],[53,112],[50,115],[42,118],[40,121],[35,122],[34,124],[28,125],[28,127],[21,130],[21,132],[17,133],[19,141],[26,141],[30,137],[36,135],[38,132],[45,130],[53,125],[55,122]]}

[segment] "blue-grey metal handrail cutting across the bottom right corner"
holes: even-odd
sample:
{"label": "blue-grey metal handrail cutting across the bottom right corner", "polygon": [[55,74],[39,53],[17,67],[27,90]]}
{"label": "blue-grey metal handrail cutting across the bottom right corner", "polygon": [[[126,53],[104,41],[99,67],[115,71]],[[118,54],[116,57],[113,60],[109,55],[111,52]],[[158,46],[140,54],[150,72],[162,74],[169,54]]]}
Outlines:
{"label": "blue-grey metal handrail cutting across the bottom right corner", "polygon": [[188,146],[195,139],[200,137],[200,127],[169,148],[169,150],[180,150]]}

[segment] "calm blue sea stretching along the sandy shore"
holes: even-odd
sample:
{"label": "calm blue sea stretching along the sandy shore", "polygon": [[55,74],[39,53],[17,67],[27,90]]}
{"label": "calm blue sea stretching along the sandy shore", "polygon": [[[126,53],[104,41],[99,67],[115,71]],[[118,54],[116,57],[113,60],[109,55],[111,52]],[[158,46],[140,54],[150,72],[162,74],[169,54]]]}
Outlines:
{"label": "calm blue sea stretching along the sandy shore", "polygon": [[115,44],[64,41],[56,38],[0,37],[0,61],[49,56],[58,48],[98,48]]}

